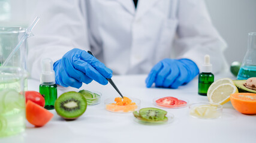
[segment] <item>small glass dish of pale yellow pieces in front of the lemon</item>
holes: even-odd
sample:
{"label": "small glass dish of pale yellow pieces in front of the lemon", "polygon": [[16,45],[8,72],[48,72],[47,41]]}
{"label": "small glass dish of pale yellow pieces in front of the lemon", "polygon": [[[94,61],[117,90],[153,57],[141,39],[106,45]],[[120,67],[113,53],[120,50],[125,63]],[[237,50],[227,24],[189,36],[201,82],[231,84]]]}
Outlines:
{"label": "small glass dish of pale yellow pieces in front of the lemon", "polygon": [[198,102],[189,105],[189,114],[198,119],[217,119],[221,117],[222,105],[212,102]]}

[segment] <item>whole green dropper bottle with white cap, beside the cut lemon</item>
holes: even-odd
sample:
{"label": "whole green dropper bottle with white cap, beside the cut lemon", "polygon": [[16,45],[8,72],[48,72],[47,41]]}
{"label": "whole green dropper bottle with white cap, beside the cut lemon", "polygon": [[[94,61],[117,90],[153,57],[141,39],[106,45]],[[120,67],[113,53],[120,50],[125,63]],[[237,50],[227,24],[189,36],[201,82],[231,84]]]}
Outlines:
{"label": "whole green dropper bottle with white cap, beside the cut lemon", "polygon": [[202,72],[198,76],[198,94],[206,96],[208,88],[213,82],[214,75],[212,74],[212,64],[210,64],[210,56],[204,55]]}

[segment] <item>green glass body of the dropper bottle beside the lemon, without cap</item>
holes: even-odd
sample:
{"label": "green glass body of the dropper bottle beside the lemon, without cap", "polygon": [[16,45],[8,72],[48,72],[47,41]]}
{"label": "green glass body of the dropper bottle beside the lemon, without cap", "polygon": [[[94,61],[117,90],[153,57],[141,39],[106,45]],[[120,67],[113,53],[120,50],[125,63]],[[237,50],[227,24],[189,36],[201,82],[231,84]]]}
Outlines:
{"label": "green glass body of the dropper bottle beside the lemon, without cap", "polygon": [[208,88],[214,82],[214,75],[212,73],[200,73],[198,76],[198,94],[207,95]]}

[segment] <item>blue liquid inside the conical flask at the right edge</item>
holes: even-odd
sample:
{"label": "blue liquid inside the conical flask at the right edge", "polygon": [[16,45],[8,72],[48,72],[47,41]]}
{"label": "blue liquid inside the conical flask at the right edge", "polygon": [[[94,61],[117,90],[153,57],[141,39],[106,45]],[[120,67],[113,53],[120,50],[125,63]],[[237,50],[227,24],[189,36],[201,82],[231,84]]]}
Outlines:
{"label": "blue liquid inside the conical flask at the right edge", "polygon": [[250,77],[256,77],[256,66],[241,67],[237,75],[237,79],[244,80],[249,79]]}

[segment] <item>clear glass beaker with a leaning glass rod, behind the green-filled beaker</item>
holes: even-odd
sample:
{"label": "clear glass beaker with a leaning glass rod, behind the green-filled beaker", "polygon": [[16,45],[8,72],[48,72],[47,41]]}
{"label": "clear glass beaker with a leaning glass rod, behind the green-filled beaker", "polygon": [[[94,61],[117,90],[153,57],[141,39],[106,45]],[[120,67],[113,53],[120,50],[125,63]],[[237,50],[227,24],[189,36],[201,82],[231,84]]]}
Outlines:
{"label": "clear glass beaker with a leaning glass rod, behind the green-filled beaker", "polygon": [[[0,27],[0,65],[5,62],[24,34],[25,29],[22,27]],[[20,45],[19,50],[11,57],[6,66],[21,67],[27,70],[26,41]]]}

